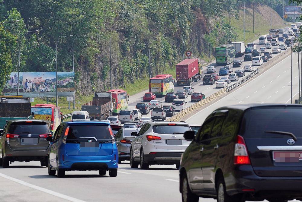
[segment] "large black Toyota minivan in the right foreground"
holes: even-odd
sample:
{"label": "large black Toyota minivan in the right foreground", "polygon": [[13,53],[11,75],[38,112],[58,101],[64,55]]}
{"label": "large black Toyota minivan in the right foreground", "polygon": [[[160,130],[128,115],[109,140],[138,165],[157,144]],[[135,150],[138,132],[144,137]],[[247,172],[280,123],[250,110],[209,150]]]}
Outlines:
{"label": "large black Toyota minivan in the right foreground", "polygon": [[302,200],[302,106],[247,104],[212,112],[181,157],[182,201]]}

